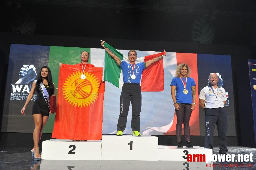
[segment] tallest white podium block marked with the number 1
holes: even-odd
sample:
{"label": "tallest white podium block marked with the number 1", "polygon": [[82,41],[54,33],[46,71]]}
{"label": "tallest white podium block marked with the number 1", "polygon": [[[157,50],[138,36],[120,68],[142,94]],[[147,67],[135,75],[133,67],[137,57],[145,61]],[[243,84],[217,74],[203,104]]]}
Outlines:
{"label": "tallest white podium block marked with the number 1", "polygon": [[101,160],[158,160],[158,137],[103,135]]}

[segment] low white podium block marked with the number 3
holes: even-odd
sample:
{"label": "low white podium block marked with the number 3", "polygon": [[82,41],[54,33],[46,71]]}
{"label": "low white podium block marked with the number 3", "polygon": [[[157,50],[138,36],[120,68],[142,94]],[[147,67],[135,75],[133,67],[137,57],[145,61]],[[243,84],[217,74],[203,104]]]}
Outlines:
{"label": "low white podium block marked with the number 3", "polygon": [[[193,148],[178,148],[177,146],[158,146],[158,156],[161,161],[187,161],[187,155],[205,154],[212,155],[213,150],[194,146]],[[196,160],[197,161],[197,160]]]}

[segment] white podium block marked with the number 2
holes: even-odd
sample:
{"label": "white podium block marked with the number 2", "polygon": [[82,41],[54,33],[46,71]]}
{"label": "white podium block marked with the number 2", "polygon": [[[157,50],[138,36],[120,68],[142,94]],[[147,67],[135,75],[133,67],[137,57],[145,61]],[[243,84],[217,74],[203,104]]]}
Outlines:
{"label": "white podium block marked with the number 2", "polygon": [[43,141],[41,158],[43,160],[101,160],[101,140],[50,139]]}

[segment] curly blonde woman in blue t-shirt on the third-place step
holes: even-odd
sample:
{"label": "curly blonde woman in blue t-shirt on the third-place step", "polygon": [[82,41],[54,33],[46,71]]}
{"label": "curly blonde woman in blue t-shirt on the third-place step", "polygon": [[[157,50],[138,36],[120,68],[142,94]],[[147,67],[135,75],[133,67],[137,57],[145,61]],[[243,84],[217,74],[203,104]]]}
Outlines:
{"label": "curly blonde woman in blue t-shirt on the third-place step", "polygon": [[[193,110],[195,110],[196,90],[195,80],[190,76],[191,70],[188,65],[182,63],[176,68],[176,76],[171,82],[172,100],[177,115],[176,135],[177,146],[183,148],[181,142],[182,123],[184,126],[184,135],[186,147],[193,148],[190,141],[189,120]],[[175,95],[176,90],[176,95]]]}

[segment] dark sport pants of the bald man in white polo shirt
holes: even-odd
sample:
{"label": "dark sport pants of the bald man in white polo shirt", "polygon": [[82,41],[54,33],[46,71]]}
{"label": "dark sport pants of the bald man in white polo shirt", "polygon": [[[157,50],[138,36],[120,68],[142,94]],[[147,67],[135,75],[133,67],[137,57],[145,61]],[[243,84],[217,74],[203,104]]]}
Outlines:
{"label": "dark sport pants of the bald man in white polo shirt", "polygon": [[213,149],[213,132],[217,125],[219,139],[219,153],[228,152],[226,132],[228,116],[224,107],[205,109],[205,147]]}

